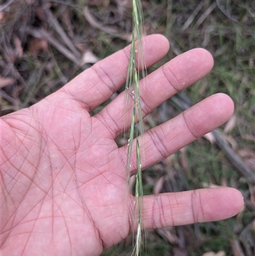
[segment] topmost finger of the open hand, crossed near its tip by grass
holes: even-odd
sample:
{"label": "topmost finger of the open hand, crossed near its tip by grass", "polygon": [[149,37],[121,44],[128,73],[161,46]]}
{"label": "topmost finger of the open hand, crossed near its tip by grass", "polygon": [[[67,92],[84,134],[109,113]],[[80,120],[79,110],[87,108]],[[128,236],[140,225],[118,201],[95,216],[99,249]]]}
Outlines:
{"label": "topmost finger of the open hand, crossed near its tip by grass", "polygon": [[[147,36],[144,41],[147,67],[162,59],[169,50],[168,40],[159,34]],[[126,82],[130,49],[129,45],[94,64],[92,68],[71,80],[62,90],[81,102],[85,109],[92,111]]]}

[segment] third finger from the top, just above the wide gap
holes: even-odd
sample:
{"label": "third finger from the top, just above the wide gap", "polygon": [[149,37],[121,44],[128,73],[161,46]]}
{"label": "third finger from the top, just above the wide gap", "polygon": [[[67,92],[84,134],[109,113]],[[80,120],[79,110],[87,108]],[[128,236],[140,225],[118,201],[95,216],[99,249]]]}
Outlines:
{"label": "third finger from the top, just above the wide gap", "polygon": [[[145,163],[143,169],[175,153],[199,137],[225,123],[233,114],[233,101],[226,94],[214,94],[179,116],[145,133],[143,137]],[[136,170],[136,151],[133,143],[131,172]],[[122,162],[126,163],[128,146],[120,147]]]}

